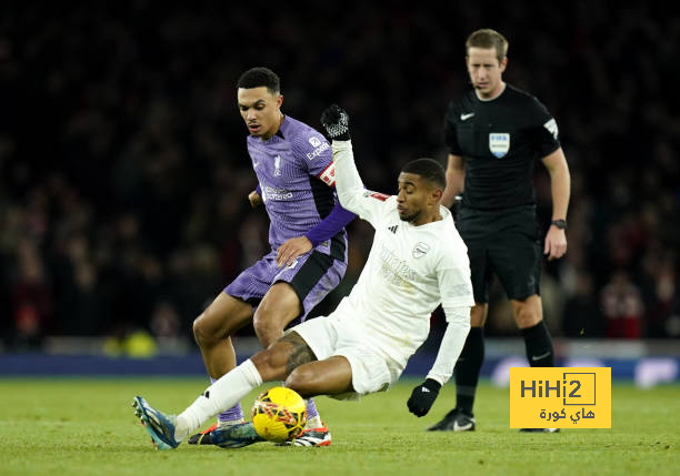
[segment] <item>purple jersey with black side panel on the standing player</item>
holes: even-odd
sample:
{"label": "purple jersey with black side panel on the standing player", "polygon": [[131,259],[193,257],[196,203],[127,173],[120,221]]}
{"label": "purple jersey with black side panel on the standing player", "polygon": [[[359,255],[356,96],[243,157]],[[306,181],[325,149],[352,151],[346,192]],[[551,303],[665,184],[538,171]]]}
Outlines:
{"label": "purple jersey with black side panel on the standing player", "polygon": [[[304,235],[336,205],[332,151],[321,133],[288,115],[270,139],[249,135],[247,143],[271,221],[269,244],[278,250],[287,240]],[[344,256],[347,232],[343,229],[316,250]]]}

